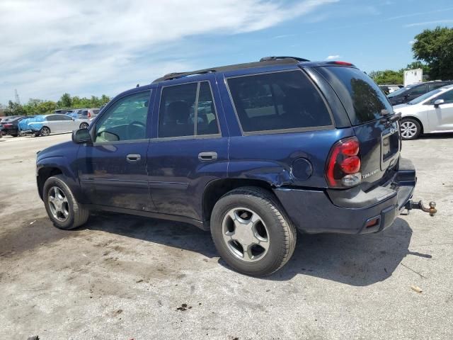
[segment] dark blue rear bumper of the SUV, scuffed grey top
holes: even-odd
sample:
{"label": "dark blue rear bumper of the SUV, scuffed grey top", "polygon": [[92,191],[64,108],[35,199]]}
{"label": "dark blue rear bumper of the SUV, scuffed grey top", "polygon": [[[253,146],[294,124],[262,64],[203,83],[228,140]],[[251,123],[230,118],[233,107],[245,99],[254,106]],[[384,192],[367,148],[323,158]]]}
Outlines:
{"label": "dark blue rear bumper of the SUV, scuffed grey top", "polygon": [[[417,178],[408,159],[400,159],[398,170],[383,186],[368,191],[311,191],[276,188],[289,218],[301,232],[367,234],[389,227],[411,199]],[[371,226],[367,223],[373,221]]]}

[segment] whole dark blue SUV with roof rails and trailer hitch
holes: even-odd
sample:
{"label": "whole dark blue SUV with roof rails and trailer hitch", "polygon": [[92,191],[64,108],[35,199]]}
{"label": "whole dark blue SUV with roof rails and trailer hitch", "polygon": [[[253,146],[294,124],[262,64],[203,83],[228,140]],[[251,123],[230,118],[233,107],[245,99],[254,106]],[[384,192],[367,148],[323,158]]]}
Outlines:
{"label": "whole dark blue SUV with roof rails and trailer hitch", "polygon": [[38,153],[38,192],[61,229],[93,210],[188,222],[236,271],[265,276],[297,231],[368,234],[411,200],[399,116],[347,62],[265,57],[173,73],[116,96],[72,141]]}

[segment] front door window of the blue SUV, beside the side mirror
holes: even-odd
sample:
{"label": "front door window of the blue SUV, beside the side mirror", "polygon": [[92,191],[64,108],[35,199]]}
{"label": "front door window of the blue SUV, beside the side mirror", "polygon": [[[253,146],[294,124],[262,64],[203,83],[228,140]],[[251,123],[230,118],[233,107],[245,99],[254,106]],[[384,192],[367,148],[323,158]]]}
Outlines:
{"label": "front door window of the blue SUV, beside the side mirror", "polygon": [[121,98],[96,123],[95,142],[142,140],[147,137],[147,116],[151,91]]}

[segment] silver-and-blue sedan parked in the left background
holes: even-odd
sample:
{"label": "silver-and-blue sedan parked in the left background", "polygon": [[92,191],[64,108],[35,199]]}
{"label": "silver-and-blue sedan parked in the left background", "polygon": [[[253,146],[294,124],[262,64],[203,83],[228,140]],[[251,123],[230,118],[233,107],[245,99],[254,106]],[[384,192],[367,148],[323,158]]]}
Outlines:
{"label": "silver-and-blue sedan parked in the left background", "polygon": [[86,121],[71,118],[68,115],[51,114],[38,115],[28,123],[28,129],[35,136],[47,136],[51,133],[68,132],[79,128],[86,128]]}

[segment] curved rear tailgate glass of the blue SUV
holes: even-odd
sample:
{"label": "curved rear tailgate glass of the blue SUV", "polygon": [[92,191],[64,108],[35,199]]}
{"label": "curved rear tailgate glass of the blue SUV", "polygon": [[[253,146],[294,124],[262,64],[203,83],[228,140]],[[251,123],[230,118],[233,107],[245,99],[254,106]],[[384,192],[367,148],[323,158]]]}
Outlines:
{"label": "curved rear tailgate glass of the blue SUV", "polygon": [[320,67],[319,71],[340,97],[352,125],[364,124],[393,112],[379,86],[360,69]]}

